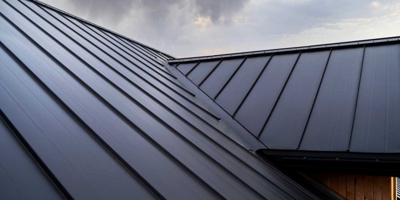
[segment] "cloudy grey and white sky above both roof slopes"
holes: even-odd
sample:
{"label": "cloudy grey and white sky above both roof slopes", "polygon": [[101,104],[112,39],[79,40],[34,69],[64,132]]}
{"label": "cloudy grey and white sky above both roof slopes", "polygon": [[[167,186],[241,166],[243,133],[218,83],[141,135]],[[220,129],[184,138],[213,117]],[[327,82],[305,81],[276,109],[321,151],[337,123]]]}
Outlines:
{"label": "cloudy grey and white sky above both roof slopes", "polygon": [[398,0],[41,0],[176,57],[400,35]]}

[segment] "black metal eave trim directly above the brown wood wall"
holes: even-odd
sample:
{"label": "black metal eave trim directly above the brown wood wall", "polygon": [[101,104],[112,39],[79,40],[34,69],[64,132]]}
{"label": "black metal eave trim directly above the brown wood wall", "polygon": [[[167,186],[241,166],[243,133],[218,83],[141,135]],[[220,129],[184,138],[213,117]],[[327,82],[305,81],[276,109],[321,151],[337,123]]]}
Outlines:
{"label": "black metal eave trim directly above the brown wood wall", "polygon": [[379,176],[400,175],[400,153],[359,153],[260,149],[257,151],[287,170],[337,172]]}

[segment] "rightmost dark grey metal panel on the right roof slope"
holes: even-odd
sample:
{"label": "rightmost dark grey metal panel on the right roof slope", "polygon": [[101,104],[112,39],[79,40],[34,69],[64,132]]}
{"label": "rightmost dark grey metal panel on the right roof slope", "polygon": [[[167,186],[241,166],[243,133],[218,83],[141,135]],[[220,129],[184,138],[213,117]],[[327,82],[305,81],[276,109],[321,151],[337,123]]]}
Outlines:
{"label": "rightmost dark grey metal panel on the right roof slope", "polygon": [[365,48],[350,150],[400,152],[400,44]]}

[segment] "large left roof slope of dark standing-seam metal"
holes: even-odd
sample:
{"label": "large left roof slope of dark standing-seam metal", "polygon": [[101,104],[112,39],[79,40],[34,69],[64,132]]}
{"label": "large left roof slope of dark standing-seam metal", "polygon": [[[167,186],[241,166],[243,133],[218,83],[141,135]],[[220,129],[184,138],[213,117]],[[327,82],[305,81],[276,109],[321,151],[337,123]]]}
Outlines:
{"label": "large left roof slope of dark standing-seam metal", "polygon": [[316,198],[233,139],[162,52],[29,0],[0,0],[0,46],[1,199]]}

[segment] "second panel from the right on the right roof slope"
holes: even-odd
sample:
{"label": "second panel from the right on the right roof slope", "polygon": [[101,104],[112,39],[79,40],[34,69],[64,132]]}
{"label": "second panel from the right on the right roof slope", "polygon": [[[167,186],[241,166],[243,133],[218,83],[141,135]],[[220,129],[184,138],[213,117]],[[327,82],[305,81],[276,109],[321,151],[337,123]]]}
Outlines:
{"label": "second panel from the right on the right roof slope", "polygon": [[300,149],[347,150],[362,53],[362,47],[332,50]]}

